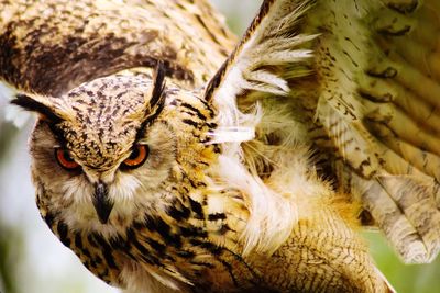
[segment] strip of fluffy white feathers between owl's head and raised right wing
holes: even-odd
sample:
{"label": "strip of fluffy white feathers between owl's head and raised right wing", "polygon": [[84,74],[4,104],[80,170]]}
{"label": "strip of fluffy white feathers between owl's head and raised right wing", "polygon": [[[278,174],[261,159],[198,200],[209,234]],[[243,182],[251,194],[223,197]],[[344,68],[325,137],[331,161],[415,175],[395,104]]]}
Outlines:
{"label": "strip of fluffy white feathers between owl's head and raised right wing", "polygon": [[[283,3],[285,2],[283,1]],[[290,3],[286,3],[286,5],[290,5]],[[296,18],[299,18],[305,9],[306,7],[298,8],[295,11]],[[280,75],[263,69],[262,66],[280,64],[283,64],[282,66],[292,66],[309,59],[310,50],[300,49],[298,45],[316,37],[316,35],[292,37],[286,34],[271,35],[274,30],[268,27],[271,22],[266,22],[271,18],[275,18],[275,15],[266,15],[258,30],[240,48],[238,56],[234,57],[234,64],[227,69],[220,87],[212,97],[219,113],[217,116],[219,126],[211,136],[213,142],[222,143],[222,155],[218,166],[211,171],[220,181],[224,182],[226,187],[240,190],[249,205],[250,218],[242,233],[244,255],[253,250],[271,253],[289,237],[297,223],[293,191],[298,187],[293,183],[293,180],[304,179],[304,174],[295,174],[296,168],[293,166],[283,166],[285,170],[288,170],[292,180],[283,177],[279,180],[287,181],[283,182],[287,188],[280,189],[282,191],[273,190],[255,171],[252,171],[252,168],[249,168],[243,159],[241,143],[254,138],[263,113],[260,106],[253,113],[243,113],[238,108],[237,97],[244,90],[266,92],[275,97],[287,95],[289,92],[287,81]],[[293,25],[293,23],[290,20],[285,20],[282,26]],[[271,37],[267,37],[268,35]],[[265,56],[266,54],[270,55]],[[288,137],[292,139],[290,136]],[[295,150],[293,148],[293,151]],[[295,157],[295,154],[293,156]],[[289,164],[288,160],[283,161]],[[277,179],[274,180],[276,182]],[[299,183],[304,183],[304,180]],[[297,181],[295,183],[298,183]],[[276,185],[274,183],[274,187]],[[300,194],[304,192],[301,191]]]}

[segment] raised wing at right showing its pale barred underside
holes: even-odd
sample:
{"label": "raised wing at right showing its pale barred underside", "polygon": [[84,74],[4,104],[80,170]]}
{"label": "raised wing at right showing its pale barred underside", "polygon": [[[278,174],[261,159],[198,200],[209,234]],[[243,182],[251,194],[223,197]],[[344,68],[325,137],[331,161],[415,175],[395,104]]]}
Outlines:
{"label": "raised wing at right showing its pale barred underside", "polygon": [[222,127],[257,104],[266,144],[279,140],[276,123],[296,125],[280,135],[311,148],[404,261],[429,262],[440,249],[439,30],[438,0],[266,0],[206,99]]}

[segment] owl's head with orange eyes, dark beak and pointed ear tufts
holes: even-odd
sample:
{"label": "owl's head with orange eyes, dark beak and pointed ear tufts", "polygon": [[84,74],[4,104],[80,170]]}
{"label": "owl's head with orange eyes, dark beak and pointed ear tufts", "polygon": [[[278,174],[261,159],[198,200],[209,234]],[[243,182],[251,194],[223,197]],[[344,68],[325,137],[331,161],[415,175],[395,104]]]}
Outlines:
{"label": "owl's head with orange eyes, dark beak and pointed ear tufts", "polygon": [[112,75],[59,98],[19,94],[13,103],[40,114],[30,149],[43,216],[59,211],[66,222],[87,227],[160,210],[182,160],[197,157],[182,159],[179,147],[197,151],[186,127],[206,123],[190,120],[190,109],[206,104],[191,92],[165,88],[161,66],[152,78]]}

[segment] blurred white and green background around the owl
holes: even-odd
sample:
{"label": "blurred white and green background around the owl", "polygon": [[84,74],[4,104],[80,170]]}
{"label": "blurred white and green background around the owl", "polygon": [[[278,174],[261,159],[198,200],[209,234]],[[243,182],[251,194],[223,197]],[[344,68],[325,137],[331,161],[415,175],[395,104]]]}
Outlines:
{"label": "blurred white and green background around the owl", "polygon": [[[260,0],[212,2],[239,35],[261,3]],[[26,149],[32,122],[21,129],[7,123],[6,95],[7,90],[0,87],[0,292],[119,292],[89,273],[40,218]],[[440,293],[440,258],[431,264],[404,266],[378,233],[364,235],[378,268],[397,292]]]}

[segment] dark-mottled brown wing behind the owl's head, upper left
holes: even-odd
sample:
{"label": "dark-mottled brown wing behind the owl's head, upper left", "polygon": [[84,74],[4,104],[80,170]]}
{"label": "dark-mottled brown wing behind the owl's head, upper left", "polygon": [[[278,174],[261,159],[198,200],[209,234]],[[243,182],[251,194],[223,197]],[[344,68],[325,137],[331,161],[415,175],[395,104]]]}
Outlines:
{"label": "dark-mottled brown wing behind the owl's head, upper left", "polygon": [[53,97],[157,59],[180,86],[200,87],[234,43],[202,0],[0,0],[0,81]]}

